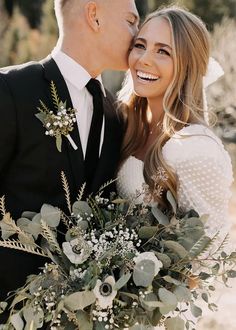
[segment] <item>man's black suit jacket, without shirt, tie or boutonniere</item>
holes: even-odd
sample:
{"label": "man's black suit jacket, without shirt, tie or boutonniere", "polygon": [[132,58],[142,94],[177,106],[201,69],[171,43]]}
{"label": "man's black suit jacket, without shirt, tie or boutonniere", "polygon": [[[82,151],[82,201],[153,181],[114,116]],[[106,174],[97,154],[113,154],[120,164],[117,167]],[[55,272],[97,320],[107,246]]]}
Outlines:
{"label": "man's black suit jacket, without shirt, tie or boutonniere", "polygon": [[[0,196],[16,219],[22,211],[39,211],[43,203],[66,210],[60,174],[65,172],[72,202],[84,183],[83,153],[77,124],[71,136],[78,146],[74,150],[63,138],[62,152],[54,137],[46,136],[42,123],[35,117],[39,100],[53,109],[50,82],[57,87],[62,101],[72,107],[65,81],[51,57],[2,69],[0,72]],[[92,191],[112,179],[120,157],[123,128],[109,93],[104,102],[104,142]],[[113,190],[114,187],[110,187]],[[21,286],[30,273],[46,260],[0,247],[0,301],[7,292]]]}

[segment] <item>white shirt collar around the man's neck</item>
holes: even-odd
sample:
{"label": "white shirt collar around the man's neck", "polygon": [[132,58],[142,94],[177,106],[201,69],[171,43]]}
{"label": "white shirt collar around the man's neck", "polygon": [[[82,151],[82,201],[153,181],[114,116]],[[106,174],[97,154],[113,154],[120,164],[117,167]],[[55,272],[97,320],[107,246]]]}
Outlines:
{"label": "white shirt collar around the man's neck", "polygon": [[[77,63],[70,56],[62,52],[60,49],[54,48],[51,53],[51,56],[56,62],[64,79],[69,81],[79,90],[82,90],[92,78],[90,74],[79,63]],[[106,97],[106,91],[102,82],[102,76],[99,75],[95,79],[100,82],[103,95]]]}

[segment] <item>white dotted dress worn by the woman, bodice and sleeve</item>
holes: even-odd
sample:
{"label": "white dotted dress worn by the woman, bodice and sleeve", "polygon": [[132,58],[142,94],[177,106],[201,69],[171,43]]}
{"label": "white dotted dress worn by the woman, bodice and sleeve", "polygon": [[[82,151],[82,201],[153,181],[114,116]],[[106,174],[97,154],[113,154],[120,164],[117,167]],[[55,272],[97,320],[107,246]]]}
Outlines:
{"label": "white dotted dress worn by the woman, bodice and sleeve", "polygon": [[[206,231],[210,236],[228,231],[233,172],[221,140],[209,128],[192,124],[169,139],[162,152],[177,177],[179,207],[208,215]],[[130,156],[118,173],[118,192],[123,198],[134,198],[143,183],[143,162]],[[141,203],[142,196],[136,202]]]}

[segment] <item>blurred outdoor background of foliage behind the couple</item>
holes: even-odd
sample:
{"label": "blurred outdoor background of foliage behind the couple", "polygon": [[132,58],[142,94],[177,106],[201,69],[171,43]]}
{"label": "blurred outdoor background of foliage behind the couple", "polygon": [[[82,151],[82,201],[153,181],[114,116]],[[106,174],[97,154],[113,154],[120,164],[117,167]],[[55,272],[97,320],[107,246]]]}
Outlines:
{"label": "blurred outdoor background of foliage behind the couple", "polygon": [[[170,3],[173,1],[136,0],[141,18]],[[207,24],[212,56],[225,71],[224,77],[208,88],[207,98],[209,108],[218,117],[214,130],[229,151],[236,174],[236,0],[180,0],[178,4]],[[0,67],[44,58],[55,46],[57,33],[52,0],[0,0]],[[104,74],[104,83],[114,95],[123,77],[122,72]],[[236,183],[232,187],[230,215],[231,239],[236,245]],[[197,329],[236,330],[235,282],[231,289],[219,285],[214,297],[219,312],[206,312]]]}

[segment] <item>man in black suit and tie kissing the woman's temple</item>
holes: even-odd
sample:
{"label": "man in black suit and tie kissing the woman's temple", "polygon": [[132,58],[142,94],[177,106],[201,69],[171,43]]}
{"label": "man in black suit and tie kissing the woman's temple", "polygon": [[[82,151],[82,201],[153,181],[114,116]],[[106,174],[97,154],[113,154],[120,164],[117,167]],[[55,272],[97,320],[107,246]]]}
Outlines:
{"label": "man in black suit and tie kissing the woman's temple", "polygon": [[[127,69],[138,26],[134,0],[55,0],[55,10],[59,40],[52,54],[0,70],[0,197],[14,219],[43,203],[66,211],[61,171],[74,201],[85,181],[89,194],[112,179],[119,160],[122,125],[100,74]],[[76,147],[63,136],[61,152],[35,116],[40,100],[55,111],[52,81],[66,107],[77,110],[70,133]],[[0,301],[45,261],[0,248]]]}

